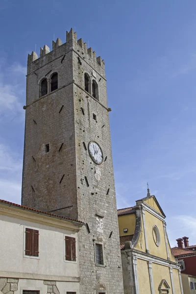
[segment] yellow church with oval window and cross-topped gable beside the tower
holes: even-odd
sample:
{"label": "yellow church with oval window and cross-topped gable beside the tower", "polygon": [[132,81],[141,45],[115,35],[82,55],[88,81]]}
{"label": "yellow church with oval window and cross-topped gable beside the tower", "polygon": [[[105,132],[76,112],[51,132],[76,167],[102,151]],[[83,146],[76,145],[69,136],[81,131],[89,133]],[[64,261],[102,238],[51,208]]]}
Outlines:
{"label": "yellow church with oval window and cross-topped gable beside the tower", "polygon": [[181,268],[155,196],[118,210],[124,294],[183,294]]}

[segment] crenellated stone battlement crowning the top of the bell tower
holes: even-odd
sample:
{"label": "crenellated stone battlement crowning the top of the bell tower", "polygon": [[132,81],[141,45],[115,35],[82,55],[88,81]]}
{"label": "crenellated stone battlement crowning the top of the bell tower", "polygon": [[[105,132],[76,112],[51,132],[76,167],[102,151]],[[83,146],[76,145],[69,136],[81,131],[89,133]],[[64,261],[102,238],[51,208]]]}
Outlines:
{"label": "crenellated stone battlement crowning the top of the bell tower", "polygon": [[[63,47],[63,48],[61,48]],[[61,50],[60,50],[61,48]],[[104,69],[104,60],[101,59],[100,56],[96,56],[96,51],[93,49],[87,48],[87,44],[83,42],[82,38],[77,40],[77,34],[71,28],[70,32],[66,32],[66,43],[62,43],[62,41],[57,38],[56,42],[52,41],[52,50],[50,51],[47,45],[44,45],[43,48],[40,48],[40,56],[38,57],[35,51],[32,51],[31,54],[28,54],[27,67],[31,66],[34,61],[37,61],[36,64],[39,63],[39,60],[44,58],[45,56],[50,56],[49,58],[57,57],[58,55],[66,54],[67,52],[75,50],[77,54],[82,54],[83,59],[92,58],[93,62],[98,63]],[[58,52],[59,51],[59,52]],[[42,62],[43,63],[43,62]],[[33,67],[34,70],[34,67]]]}

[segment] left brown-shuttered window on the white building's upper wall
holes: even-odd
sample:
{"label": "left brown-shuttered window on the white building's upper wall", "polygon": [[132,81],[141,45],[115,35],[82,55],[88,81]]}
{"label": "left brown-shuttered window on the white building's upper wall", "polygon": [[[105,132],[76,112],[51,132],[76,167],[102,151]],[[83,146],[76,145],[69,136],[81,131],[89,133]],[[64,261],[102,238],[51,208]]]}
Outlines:
{"label": "left brown-shuttered window on the white building's upper wall", "polygon": [[25,255],[39,256],[39,231],[25,229]]}

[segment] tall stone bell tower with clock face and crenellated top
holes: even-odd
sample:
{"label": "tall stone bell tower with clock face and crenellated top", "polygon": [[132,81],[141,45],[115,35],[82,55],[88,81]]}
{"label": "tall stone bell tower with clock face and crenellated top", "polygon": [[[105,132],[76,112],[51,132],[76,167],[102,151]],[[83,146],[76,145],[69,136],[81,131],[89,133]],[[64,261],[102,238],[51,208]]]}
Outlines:
{"label": "tall stone bell tower with clock face and crenellated top", "polygon": [[28,55],[22,205],[84,221],[80,294],[123,294],[104,61],[71,29]]}

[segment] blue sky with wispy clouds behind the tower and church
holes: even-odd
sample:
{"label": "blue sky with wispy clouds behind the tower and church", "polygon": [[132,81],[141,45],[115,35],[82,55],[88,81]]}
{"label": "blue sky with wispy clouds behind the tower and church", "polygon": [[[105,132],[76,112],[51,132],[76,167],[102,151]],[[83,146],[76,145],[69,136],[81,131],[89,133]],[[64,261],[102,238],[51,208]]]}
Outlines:
{"label": "blue sky with wispy clouds behind the tower and church", "polygon": [[27,54],[66,30],[105,60],[118,208],[146,196],[196,244],[196,1],[0,1],[0,198],[20,203]]}

